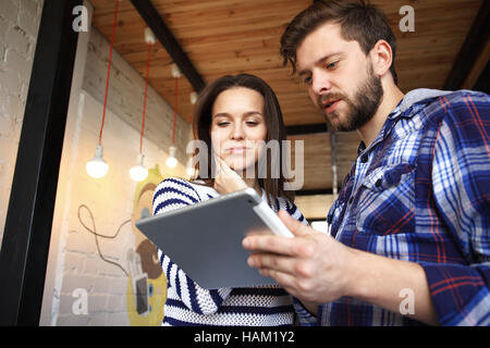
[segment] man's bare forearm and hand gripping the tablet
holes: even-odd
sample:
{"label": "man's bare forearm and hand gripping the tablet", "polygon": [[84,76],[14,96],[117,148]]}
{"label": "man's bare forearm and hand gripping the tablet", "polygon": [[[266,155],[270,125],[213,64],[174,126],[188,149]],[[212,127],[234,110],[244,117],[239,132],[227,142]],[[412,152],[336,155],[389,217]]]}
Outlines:
{"label": "man's bare forearm and hand gripping the tablet", "polygon": [[438,324],[426,274],[419,264],[348,248],[303,225],[284,211],[279,212],[279,217],[295,238],[246,237],[244,248],[254,251],[248,264],[259,269],[262,275],[273,277],[311,312],[318,304],[343,296],[400,312],[400,291],[411,289],[415,311],[408,315],[427,324]]}

